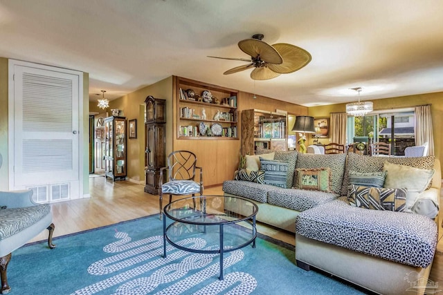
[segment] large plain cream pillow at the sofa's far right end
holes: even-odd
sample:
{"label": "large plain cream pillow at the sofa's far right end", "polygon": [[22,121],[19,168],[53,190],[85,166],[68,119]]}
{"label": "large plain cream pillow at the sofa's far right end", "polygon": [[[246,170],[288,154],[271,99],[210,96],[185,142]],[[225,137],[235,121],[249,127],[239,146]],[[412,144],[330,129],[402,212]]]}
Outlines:
{"label": "large plain cream pillow at the sofa's far right end", "polygon": [[420,193],[428,187],[435,172],[434,169],[418,169],[405,165],[392,164],[390,162],[383,164],[383,171],[388,172],[383,187],[404,187],[408,189],[406,211],[411,211],[413,204]]}

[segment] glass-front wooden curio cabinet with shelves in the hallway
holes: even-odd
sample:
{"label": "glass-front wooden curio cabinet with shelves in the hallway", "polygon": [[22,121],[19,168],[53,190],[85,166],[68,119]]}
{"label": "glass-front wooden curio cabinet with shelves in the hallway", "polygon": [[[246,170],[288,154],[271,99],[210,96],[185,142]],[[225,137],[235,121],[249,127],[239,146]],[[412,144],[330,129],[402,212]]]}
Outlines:
{"label": "glass-front wooden curio cabinet with shelves in the hallway", "polygon": [[105,118],[105,176],[112,180],[126,178],[126,118]]}

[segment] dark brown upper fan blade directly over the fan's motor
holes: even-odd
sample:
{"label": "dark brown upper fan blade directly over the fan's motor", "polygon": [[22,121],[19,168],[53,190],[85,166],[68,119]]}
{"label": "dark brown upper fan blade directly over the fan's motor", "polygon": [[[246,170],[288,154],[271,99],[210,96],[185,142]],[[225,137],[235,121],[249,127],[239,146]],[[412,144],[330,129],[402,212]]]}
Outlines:
{"label": "dark brown upper fan blade directly over the fan's motor", "polygon": [[244,39],[238,42],[238,47],[251,57],[258,57],[269,64],[281,64],[283,62],[280,53],[264,41],[258,39]]}

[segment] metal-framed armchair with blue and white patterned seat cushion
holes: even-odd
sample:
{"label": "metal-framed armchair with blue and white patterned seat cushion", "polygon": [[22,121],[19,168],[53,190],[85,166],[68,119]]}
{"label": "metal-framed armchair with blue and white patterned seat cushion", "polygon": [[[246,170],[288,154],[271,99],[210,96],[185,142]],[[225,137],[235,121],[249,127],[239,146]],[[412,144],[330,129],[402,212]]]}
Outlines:
{"label": "metal-framed armchair with blue and white patterned seat cushion", "polygon": [[[195,180],[196,169],[199,169],[199,182]],[[163,183],[163,171],[168,173],[168,181]],[[168,166],[160,169],[159,201],[160,219],[163,218],[163,194],[172,196],[203,195],[203,169],[197,166],[197,156],[190,151],[174,151],[168,155]],[[195,208],[195,200],[194,208]]]}

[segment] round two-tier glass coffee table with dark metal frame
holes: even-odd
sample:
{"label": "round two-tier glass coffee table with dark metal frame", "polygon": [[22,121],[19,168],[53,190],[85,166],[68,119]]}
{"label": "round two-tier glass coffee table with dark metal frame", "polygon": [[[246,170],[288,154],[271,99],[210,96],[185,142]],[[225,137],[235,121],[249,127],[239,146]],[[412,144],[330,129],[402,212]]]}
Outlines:
{"label": "round two-tier glass coffee table with dark metal frame", "polygon": [[[235,206],[243,215],[224,210],[226,198],[230,198],[230,207]],[[219,279],[223,280],[224,253],[250,244],[255,248],[257,212],[257,205],[250,200],[232,196],[195,196],[170,202],[163,210],[163,257],[166,241],[184,251],[219,254]],[[188,238],[203,239],[208,247],[199,249],[192,242],[181,242]]]}

